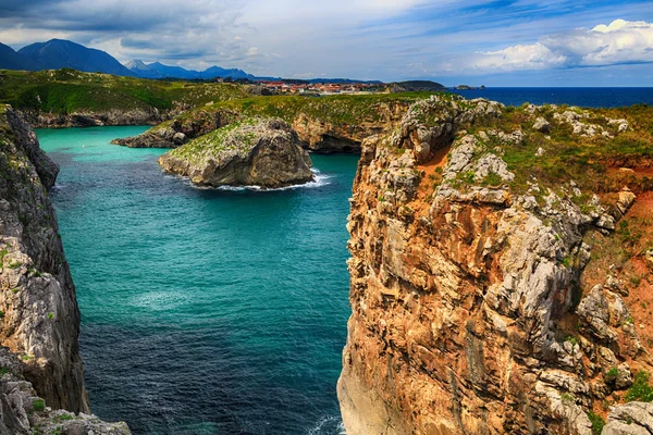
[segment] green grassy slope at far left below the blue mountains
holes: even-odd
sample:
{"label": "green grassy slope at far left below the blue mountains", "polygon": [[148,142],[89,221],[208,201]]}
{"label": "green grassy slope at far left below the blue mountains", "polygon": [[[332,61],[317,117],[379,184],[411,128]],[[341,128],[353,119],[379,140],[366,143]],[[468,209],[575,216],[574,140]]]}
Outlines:
{"label": "green grassy slope at far left below the blue mountains", "polygon": [[164,82],[74,70],[38,73],[0,70],[0,102],[17,109],[66,114],[111,109],[172,109],[249,97],[239,85]]}

